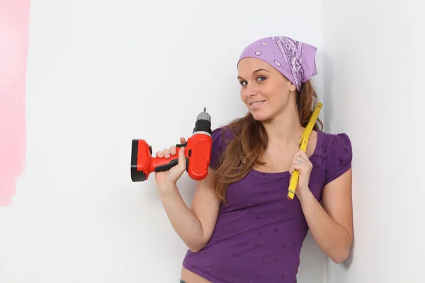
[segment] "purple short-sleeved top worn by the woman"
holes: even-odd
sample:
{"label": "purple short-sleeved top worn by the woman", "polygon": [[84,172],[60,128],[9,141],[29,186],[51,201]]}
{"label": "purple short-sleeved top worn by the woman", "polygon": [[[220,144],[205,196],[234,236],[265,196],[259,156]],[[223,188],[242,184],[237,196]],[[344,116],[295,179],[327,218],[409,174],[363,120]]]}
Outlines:
{"label": "purple short-sleeved top worn by the woman", "polygon": [[[223,127],[212,132],[212,168],[232,137]],[[351,168],[351,141],[347,134],[317,132],[310,161],[310,190],[321,200],[324,185]],[[308,231],[297,197],[288,200],[290,173],[262,173],[252,169],[229,185],[215,230],[198,253],[188,250],[186,269],[213,283],[297,282],[300,250]]]}

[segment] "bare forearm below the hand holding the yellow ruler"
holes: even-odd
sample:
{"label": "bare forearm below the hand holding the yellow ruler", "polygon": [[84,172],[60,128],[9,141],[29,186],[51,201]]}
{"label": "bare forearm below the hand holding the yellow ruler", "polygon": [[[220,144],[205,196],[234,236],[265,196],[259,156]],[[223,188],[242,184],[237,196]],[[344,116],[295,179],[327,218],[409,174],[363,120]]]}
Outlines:
{"label": "bare forearm below the hand holding the yellow ruler", "polygon": [[343,226],[327,214],[310,190],[300,197],[302,211],[314,241],[336,263],[348,257],[351,237]]}

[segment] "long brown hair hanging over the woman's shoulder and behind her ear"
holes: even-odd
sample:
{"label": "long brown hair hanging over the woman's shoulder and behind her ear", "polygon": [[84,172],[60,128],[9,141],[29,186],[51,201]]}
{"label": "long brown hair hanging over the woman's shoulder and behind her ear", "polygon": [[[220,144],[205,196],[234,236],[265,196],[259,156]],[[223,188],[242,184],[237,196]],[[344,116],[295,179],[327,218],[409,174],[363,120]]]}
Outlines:
{"label": "long brown hair hanging over the woman's shoulder and behind her ear", "polygon": [[[302,127],[307,126],[316,104],[317,93],[314,91],[311,81],[307,81],[297,92],[297,110]],[[313,129],[322,130],[322,128],[322,121],[317,119]],[[259,157],[266,151],[268,143],[263,124],[254,120],[249,112],[244,117],[230,122],[224,129],[232,132],[232,139],[227,141],[224,135],[225,130],[222,131],[222,139],[228,144],[220,156],[220,166],[217,168],[213,180],[215,192],[223,202],[225,202],[227,186],[230,183],[244,178],[254,166],[264,164],[259,161]]]}

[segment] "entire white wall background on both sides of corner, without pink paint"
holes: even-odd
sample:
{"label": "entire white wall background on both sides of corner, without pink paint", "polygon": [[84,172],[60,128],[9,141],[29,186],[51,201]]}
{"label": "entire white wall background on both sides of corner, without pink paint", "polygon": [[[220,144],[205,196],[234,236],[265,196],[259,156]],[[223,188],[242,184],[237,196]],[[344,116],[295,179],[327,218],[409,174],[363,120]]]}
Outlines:
{"label": "entire white wall background on both sides of corner, without pink paint", "polygon": [[[237,59],[271,35],[318,48],[325,130],[353,142],[353,253],[334,265],[307,236],[299,282],[423,282],[424,18],[400,3],[33,1],[26,173],[0,208],[0,282],[179,282],[187,248],[154,175],[130,180],[131,140],[176,144],[203,107],[212,127],[244,115]],[[189,205],[194,186],[183,175]]]}

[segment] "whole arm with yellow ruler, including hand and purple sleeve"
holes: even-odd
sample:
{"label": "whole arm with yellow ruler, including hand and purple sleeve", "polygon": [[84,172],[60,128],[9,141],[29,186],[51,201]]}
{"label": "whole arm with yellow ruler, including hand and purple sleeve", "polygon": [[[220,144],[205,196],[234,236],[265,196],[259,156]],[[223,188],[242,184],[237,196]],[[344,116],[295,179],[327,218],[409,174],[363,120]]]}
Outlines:
{"label": "whole arm with yellow ruler, including hand and purple sleeve", "polygon": [[300,173],[295,194],[314,241],[331,260],[341,263],[348,258],[353,241],[351,141],[346,134],[335,134],[326,149],[322,203],[310,191],[313,165],[304,151],[293,156],[290,173],[295,170]]}

